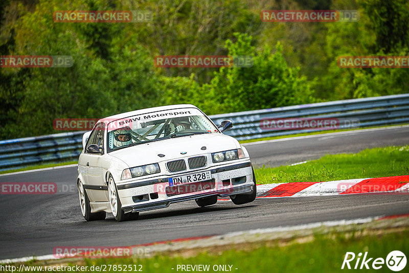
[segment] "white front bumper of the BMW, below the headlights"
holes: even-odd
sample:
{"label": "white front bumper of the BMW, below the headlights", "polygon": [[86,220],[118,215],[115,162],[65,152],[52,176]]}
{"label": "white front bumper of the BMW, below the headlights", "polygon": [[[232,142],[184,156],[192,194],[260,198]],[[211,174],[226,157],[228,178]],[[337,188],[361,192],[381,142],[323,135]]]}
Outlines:
{"label": "white front bumper of the BMW, below the headlights", "polygon": [[[189,193],[169,194],[168,178],[160,178],[146,181],[134,181],[127,184],[118,184],[118,195],[122,203],[122,209],[127,212],[140,212],[166,208],[171,203],[193,200],[211,195],[221,197],[234,194],[251,194],[253,192],[253,171],[250,161],[236,164],[212,167],[205,170],[196,170],[183,173],[198,173],[211,171],[212,188],[193,190]],[[179,176],[182,174],[175,174]],[[205,183],[205,181],[203,181]],[[192,184],[184,184],[189,186]],[[171,196],[169,196],[171,195]]]}

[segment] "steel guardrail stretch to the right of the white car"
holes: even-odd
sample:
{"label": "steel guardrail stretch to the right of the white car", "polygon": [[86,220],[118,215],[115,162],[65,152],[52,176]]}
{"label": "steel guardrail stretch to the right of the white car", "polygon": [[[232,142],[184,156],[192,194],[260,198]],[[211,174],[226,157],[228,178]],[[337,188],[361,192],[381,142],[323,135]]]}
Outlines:
{"label": "steel guardrail stretch to the right of the white car", "polygon": [[[368,127],[409,122],[409,94],[331,101],[313,104],[294,105],[263,110],[244,111],[214,115],[210,118],[216,124],[222,120],[233,121],[233,128],[226,131],[237,140],[250,140],[277,135],[286,135],[316,130],[263,130],[263,118],[338,118],[339,129],[353,127],[349,121],[358,121],[357,127]],[[354,123],[355,125],[356,123]]]}

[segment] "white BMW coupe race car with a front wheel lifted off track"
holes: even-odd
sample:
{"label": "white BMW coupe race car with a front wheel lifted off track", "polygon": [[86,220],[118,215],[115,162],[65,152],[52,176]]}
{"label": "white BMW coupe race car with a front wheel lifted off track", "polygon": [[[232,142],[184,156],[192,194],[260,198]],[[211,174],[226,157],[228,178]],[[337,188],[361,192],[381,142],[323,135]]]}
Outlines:
{"label": "white BMW coupe race car with a front wheel lifted off track", "polygon": [[247,150],[194,105],[136,110],[99,120],[82,138],[77,186],[85,220],[138,219],[139,212],[196,200],[256,198]]}

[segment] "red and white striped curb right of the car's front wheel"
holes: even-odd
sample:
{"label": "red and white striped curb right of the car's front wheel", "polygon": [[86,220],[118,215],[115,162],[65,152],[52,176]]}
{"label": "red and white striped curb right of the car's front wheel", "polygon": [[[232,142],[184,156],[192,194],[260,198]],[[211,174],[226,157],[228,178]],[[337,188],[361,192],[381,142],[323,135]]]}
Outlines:
{"label": "red and white striped curb right of the car's front wheel", "polygon": [[257,198],[395,192],[409,194],[409,175],[257,185]]}

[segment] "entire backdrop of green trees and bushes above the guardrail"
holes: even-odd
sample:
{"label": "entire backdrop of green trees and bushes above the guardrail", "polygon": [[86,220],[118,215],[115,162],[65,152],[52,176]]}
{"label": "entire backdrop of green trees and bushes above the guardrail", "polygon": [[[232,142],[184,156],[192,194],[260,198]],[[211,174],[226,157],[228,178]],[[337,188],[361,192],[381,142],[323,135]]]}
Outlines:
{"label": "entire backdrop of green trees and bushes above the guardrail", "polygon": [[[0,139],[191,103],[208,114],[405,93],[407,69],[341,69],[341,55],[408,55],[405,0],[3,1],[1,55],[70,55],[69,68],[0,68]],[[263,9],[358,9],[351,23],[273,23]],[[147,23],[54,22],[57,10],[150,10]],[[249,55],[253,67],[167,68],[157,55]]]}

